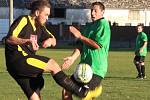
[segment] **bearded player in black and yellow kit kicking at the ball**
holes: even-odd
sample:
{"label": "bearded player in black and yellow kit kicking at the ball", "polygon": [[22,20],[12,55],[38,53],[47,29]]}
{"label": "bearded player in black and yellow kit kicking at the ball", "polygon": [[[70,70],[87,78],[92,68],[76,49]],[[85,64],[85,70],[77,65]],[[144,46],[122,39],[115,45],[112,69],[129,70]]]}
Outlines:
{"label": "bearded player in black and yellow kit kicking at the ball", "polygon": [[44,86],[42,74],[50,73],[56,83],[84,97],[85,87],[73,83],[52,58],[36,54],[41,42],[44,48],[56,45],[55,37],[46,29],[50,15],[48,0],[36,0],[31,4],[30,15],[22,15],[11,25],[5,44],[6,66],[28,100],[40,100],[40,90]]}

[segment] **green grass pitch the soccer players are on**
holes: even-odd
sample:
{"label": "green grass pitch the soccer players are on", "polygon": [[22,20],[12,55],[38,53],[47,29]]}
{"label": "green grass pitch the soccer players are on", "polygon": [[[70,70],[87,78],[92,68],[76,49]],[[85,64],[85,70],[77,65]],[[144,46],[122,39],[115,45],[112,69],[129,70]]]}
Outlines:
{"label": "green grass pitch the soccer players are on", "polygon": [[[38,52],[40,55],[54,58],[59,64],[62,63],[63,57],[71,53],[70,49],[41,49]],[[137,74],[132,63],[133,57],[133,51],[109,52],[109,68],[103,80],[103,93],[96,100],[150,100],[150,52],[145,59],[147,79],[144,80],[135,79]],[[78,61],[65,72],[71,74]],[[50,75],[44,74],[44,79],[42,100],[61,100],[62,88]],[[0,100],[27,100],[20,87],[6,71],[3,47],[0,48]]]}

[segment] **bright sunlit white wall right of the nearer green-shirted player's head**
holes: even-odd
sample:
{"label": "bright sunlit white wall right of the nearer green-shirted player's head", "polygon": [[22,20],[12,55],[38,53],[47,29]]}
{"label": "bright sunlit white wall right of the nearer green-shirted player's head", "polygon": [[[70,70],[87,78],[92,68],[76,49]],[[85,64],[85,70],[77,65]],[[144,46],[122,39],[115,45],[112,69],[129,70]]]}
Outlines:
{"label": "bright sunlit white wall right of the nearer green-shirted player's head", "polygon": [[[136,11],[138,15],[131,14],[132,10],[129,9],[106,9],[104,17],[111,21],[119,23],[119,26],[125,26],[131,23],[131,26],[136,26],[139,23],[143,23],[145,26],[150,24],[150,11],[149,10],[133,10]],[[136,17],[134,19],[134,17]]]}

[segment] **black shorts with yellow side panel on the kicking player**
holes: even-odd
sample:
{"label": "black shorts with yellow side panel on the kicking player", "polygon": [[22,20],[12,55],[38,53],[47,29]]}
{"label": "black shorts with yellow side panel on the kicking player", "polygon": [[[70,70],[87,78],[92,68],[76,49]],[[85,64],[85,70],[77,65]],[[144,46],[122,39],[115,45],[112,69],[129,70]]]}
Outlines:
{"label": "black shorts with yellow side panel on the kicking player", "polygon": [[49,58],[38,55],[20,57],[9,64],[6,61],[9,74],[20,85],[28,99],[34,92],[40,96],[40,90],[44,86],[43,68],[48,61]]}

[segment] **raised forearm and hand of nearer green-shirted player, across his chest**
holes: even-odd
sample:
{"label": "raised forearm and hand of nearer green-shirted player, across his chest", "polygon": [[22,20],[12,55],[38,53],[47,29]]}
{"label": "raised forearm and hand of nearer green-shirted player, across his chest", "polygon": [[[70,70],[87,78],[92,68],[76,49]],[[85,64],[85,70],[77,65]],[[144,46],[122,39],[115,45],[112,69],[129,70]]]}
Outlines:
{"label": "raised forearm and hand of nearer green-shirted player, across his chest", "polygon": [[94,47],[95,49],[100,48],[100,46],[93,40],[84,37],[83,35],[81,35],[80,31],[78,29],[76,29],[73,26],[69,27],[70,32],[78,39],[80,39],[81,41],[83,41],[84,43]]}

